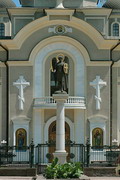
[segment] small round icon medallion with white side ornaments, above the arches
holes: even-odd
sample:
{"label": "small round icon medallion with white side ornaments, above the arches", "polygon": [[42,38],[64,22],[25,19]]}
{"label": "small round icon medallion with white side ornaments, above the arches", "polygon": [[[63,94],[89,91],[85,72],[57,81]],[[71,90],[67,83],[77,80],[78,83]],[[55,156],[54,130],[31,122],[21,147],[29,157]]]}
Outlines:
{"label": "small round icon medallion with white side ornaments, above the arches", "polygon": [[72,33],[72,28],[64,26],[64,25],[57,25],[54,27],[49,27],[48,32],[49,33],[53,32],[54,34],[61,35],[61,34],[65,34],[67,32]]}

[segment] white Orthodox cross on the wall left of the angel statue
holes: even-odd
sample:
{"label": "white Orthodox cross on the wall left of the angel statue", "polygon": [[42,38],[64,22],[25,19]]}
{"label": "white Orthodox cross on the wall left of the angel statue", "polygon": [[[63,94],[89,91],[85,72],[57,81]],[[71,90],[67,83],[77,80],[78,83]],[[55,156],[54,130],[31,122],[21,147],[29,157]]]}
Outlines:
{"label": "white Orthodox cross on the wall left of the angel statue", "polygon": [[16,82],[13,82],[13,85],[16,86],[19,89],[19,110],[23,110],[23,105],[25,103],[24,93],[23,89],[30,85],[29,82],[27,82],[23,76],[19,76],[19,79]]}

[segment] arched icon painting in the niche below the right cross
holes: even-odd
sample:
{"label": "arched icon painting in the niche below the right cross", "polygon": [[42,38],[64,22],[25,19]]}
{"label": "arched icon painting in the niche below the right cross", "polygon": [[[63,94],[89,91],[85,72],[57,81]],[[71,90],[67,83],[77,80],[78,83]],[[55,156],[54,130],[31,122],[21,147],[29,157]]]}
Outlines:
{"label": "arched icon painting in the niche below the right cross", "polygon": [[93,129],[92,146],[103,146],[103,130],[101,128]]}

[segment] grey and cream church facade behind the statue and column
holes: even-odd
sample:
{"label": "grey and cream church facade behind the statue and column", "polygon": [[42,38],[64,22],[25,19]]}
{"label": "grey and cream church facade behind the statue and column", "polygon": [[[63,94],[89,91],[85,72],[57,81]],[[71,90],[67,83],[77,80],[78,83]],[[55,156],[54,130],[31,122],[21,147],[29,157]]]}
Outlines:
{"label": "grey and cream church facade behind the statue and column", "polygon": [[65,138],[120,144],[120,4],[96,0],[1,2],[0,141],[55,141],[53,61],[68,64]]}

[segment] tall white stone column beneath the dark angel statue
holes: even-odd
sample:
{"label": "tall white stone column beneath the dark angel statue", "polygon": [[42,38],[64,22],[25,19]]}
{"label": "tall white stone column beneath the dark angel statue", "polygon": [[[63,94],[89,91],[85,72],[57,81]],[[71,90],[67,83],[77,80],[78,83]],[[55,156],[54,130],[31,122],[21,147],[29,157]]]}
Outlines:
{"label": "tall white stone column beneath the dark angel statue", "polygon": [[57,103],[57,119],[56,119],[56,151],[53,154],[58,158],[59,163],[66,162],[65,150],[65,113],[64,103],[68,99],[68,94],[53,94],[53,98]]}

